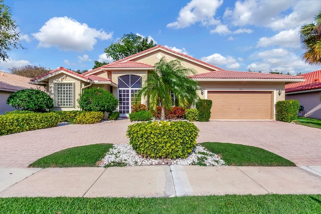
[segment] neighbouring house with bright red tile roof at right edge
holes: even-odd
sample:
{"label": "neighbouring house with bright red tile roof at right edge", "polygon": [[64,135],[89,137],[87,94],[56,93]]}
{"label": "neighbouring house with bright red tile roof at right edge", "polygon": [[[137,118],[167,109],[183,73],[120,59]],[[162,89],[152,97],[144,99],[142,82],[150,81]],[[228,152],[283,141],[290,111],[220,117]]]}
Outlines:
{"label": "neighbouring house with bright red tile roof at right edge", "polygon": [[321,120],[321,70],[299,76],[305,81],[286,84],[285,99],[296,99],[303,106],[298,116]]}

